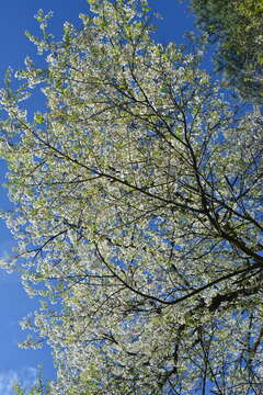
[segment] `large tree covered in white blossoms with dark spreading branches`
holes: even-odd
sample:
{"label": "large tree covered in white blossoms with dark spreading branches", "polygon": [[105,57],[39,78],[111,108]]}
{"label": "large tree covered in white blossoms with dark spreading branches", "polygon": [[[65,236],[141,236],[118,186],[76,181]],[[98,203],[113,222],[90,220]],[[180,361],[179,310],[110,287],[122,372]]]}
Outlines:
{"label": "large tree covered in white blossoms with dark spreading branches", "polygon": [[[2,90],[7,266],[47,298],[25,346],[52,345],[52,393],[260,394],[262,121],[199,52],[156,44],[146,1],[89,3],[61,42],[39,11],[47,68],[27,58]],[[39,83],[31,122],[18,103]]]}

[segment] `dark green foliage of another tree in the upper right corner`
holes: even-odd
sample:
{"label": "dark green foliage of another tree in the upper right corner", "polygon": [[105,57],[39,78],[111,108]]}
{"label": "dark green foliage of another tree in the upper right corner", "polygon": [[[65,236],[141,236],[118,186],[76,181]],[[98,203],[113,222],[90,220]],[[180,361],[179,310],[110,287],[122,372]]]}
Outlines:
{"label": "dark green foliage of another tree in the upper right corner", "polygon": [[219,43],[217,68],[241,94],[263,103],[263,1],[192,0],[198,25]]}

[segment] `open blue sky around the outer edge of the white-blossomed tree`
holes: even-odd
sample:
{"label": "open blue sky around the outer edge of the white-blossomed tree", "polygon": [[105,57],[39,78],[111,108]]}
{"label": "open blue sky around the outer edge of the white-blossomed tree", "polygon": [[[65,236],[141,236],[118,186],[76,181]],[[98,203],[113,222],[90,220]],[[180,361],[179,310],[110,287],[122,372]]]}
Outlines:
{"label": "open blue sky around the outer edge of the white-blossomed tree", "polygon": [[[183,33],[194,29],[193,16],[186,10],[185,3],[178,3],[176,0],[150,0],[149,2],[156,11],[163,15],[163,20],[158,22],[158,40],[163,43],[169,41],[182,43]],[[45,12],[54,11],[52,29],[56,36],[61,34],[61,26],[66,20],[80,26],[78,15],[88,11],[85,0],[1,0],[0,86],[4,70],[9,66],[14,70],[21,69],[26,55],[32,58],[36,57],[34,45],[28,42],[24,32],[28,30],[33,34],[38,33],[37,22],[33,16],[41,8]],[[39,105],[39,102],[35,103],[36,108]],[[5,171],[4,163],[0,162],[1,183],[4,182]],[[0,193],[0,210],[11,207],[7,191],[1,188]],[[0,253],[3,257],[10,251],[13,240],[2,223],[0,232]],[[53,377],[55,375],[48,347],[44,347],[42,350],[18,348],[18,341],[25,337],[18,323],[37,306],[37,301],[28,298],[23,291],[16,274],[9,275],[0,271],[0,395],[12,394],[10,383],[14,379],[19,377],[25,384],[31,382],[38,364],[44,366],[45,376]]]}

